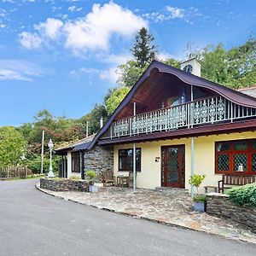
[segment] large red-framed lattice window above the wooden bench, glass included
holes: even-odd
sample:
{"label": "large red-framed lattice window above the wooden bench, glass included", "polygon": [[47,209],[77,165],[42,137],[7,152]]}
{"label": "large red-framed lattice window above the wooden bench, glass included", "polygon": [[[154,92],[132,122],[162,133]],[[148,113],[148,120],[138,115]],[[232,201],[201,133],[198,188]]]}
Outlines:
{"label": "large red-framed lattice window above the wooden bench, glass included", "polygon": [[256,140],[216,143],[215,172],[256,175]]}

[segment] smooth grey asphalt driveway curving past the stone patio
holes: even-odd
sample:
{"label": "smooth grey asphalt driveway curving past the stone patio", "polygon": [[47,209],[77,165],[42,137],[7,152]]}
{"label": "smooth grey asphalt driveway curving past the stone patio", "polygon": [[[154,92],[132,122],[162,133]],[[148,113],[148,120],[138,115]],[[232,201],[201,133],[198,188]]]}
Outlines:
{"label": "smooth grey asphalt driveway curving past the stone patio", "polygon": [[256,246],[113,214],[0,181],[0,255],[255,255]]}

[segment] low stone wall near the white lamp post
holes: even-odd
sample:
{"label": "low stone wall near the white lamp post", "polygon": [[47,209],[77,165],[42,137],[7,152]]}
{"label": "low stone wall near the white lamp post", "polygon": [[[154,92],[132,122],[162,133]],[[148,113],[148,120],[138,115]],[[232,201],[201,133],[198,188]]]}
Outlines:
{"label": "low stone wall near the white lamp post", "polygon": [[42,177],[40,178],[40,188],[53,191],[89,192],[89,183],[84,180]]}

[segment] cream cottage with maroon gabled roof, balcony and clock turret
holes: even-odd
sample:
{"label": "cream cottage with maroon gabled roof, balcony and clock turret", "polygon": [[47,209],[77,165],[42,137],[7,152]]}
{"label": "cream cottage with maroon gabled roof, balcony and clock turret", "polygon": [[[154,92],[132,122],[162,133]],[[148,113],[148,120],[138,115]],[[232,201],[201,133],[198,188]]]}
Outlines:
{"label": "cream cottage with maroon gabled roof, balcony and clock turret", "polygon": [[212,186],[223,174],[256,175],[256,99],[200,72],[195,58],[181,69],[153,61],[101,131],[67,148],[67,172],[75,168],[68,158],[82,177],[90,169],[136,172],[146,189],[190,189],[193,173]]}

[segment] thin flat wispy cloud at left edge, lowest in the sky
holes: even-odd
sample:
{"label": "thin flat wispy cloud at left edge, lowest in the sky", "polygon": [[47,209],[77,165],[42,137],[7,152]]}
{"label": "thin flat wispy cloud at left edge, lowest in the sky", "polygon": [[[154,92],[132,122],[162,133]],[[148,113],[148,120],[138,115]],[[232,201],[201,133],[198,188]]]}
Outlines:
{"label": "thin flat wispy cloud at left edge, lowest in the sky", "polygon": [[20,80],[31,82],[44,71],[28,61],[0,60],[0,80]]}

